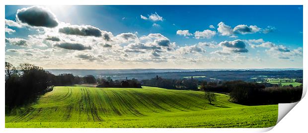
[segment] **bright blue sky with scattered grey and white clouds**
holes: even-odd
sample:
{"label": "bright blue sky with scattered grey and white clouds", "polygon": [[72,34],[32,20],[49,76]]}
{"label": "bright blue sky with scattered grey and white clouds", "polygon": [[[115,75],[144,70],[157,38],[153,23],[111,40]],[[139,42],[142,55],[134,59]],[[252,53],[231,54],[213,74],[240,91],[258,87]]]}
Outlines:
{"label": "bright blue sky with scattered grey and white clouds", "polygon": [[5,62],[303,68],[302,5],[6,5]]}

